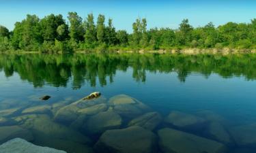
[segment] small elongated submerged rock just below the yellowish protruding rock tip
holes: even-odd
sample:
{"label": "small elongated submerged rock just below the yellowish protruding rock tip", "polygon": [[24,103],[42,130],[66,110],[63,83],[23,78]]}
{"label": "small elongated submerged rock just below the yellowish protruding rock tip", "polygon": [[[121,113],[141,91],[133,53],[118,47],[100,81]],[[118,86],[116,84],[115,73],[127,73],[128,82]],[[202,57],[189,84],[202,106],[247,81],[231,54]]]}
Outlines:
{"label": "small elongated submerged rock just below the yellowish protruding rock tip", "polygon": [[84,109],[80,109],[80,114],[86,114],[86,115],[94,115],[98,114],[99,112],[104,112],[108,109],[108,106],[105,103],[101,103],[98,105],[93,105],[91,107],[86,107]]}

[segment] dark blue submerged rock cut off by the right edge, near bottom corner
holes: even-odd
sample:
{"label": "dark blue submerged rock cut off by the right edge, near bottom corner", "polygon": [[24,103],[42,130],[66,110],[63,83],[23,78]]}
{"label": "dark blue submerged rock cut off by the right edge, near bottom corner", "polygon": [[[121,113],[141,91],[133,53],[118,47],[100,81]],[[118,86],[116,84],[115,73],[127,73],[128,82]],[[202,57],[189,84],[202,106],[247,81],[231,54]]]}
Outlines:
{"label": "dark blue submerged rock cut off by the right edge, near bottom corner", "polygon": [[256,124],[235,126],[230,130],[238,146],[256,145]]}

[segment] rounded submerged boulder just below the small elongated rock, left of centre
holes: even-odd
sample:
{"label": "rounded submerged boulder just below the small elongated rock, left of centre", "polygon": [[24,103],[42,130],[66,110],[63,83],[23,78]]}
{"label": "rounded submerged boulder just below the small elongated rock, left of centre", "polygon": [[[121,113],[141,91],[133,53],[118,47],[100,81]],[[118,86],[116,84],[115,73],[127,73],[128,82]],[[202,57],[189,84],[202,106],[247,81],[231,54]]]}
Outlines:
{"label": "rounded submerged boulder just below the small elongated rock, left of centre", "polygon": [[122,124],[122,118],[115,112],[100,112],[91,116],[85,122],[85,129],[92,134],[103,133],[106,130],[117,129]]}

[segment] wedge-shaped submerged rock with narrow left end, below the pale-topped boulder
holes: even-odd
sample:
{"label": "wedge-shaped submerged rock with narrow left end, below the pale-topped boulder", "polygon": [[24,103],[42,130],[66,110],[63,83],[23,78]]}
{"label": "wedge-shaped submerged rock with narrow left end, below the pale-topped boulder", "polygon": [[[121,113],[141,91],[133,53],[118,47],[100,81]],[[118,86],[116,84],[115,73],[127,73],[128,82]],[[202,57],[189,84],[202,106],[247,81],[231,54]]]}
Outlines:
{"label": "wedge-shaped submerged rock with narrow left end, below the pale-topped boulder", "polygon": [[156,126],[161,122],[162,118],[160,114],[157,112],[150,112],[139,116],[138,118],[134,118],[128,124],[128,126],[141,126],[144,129],[154,130]]}

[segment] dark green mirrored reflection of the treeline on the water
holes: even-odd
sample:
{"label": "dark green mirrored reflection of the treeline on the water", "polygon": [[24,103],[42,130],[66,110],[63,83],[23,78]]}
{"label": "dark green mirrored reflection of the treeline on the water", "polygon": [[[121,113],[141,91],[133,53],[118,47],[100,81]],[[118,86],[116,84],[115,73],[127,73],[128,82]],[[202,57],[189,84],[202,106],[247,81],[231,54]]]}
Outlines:
{"label": "dark green mirrored reflection of the treeline on the water", "polygon": [[244,75],[248,80],[256,78],[256,55],[172,55],[172,54],[9,54],[0,56],[0,69],[10,77],[14,71],[22,80],[32,82],[35,87],[51,84],[66,86],[73,77],[73,88],[81,88],[86,82],[106,86],[106,78],[113,82],[117,70],[132,67],[132,77],[137,82],[146,81],[146,73],[175,71],[180,82],[185,82],[191,72],[199,72],[207,78],[218,73],[223,78]]}

